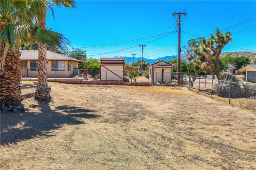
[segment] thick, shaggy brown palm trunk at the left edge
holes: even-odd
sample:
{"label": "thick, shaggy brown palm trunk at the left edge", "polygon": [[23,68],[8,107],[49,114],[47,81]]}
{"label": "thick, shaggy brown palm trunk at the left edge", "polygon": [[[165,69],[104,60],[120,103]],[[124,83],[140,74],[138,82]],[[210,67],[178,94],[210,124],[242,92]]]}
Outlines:
{"label": "thick, shaggy brown palm trunk at the left edge", "polygon": [[[0,46],[0,54],[3,54],[4,48]],[[8,49],[4,61],[4,67],[0,70],[0,88],[1,88],[1,109],[3,101],[12,102],[13,106],[20,105],[21,97],[21,76],[20,76],[20,55],[18,48],[16,50]]]}

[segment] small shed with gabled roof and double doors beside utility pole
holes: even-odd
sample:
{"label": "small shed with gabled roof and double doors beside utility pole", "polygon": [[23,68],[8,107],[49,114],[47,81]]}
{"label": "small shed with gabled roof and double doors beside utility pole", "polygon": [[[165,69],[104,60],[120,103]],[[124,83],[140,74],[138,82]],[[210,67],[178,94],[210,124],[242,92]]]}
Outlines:
{"label": "small shed with gabled roof and double doors beside utility pole", "polygon": [[149,65],[150,83],[170,83],[172,81],[173,66],[165,61],[158,61]]}

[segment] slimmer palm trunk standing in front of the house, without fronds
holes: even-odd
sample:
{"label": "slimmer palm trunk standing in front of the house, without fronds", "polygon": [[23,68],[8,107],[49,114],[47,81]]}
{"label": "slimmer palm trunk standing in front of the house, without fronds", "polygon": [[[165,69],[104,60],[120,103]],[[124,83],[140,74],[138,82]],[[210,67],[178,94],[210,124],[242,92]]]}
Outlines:
{"label": "slimmer palm trunk standing in front of the house, without fronds", "polygon": [[[38,26],[46,27],[46,9],[44,7],[44,17],[38,21]],[[38,43],[38,71],[37,86],[35,100],[51,101],[50,90],[47,83],[47,60],[46,60],[46,44]]]}

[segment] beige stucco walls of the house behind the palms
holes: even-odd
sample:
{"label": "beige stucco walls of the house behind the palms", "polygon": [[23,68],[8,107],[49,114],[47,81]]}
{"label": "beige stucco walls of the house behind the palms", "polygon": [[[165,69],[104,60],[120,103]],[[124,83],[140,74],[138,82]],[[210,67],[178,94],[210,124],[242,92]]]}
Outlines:
{"label": "beige stucco walls of the house behind the palms", "polygon": [[[52,62],[47,61],[47,77],[48,78],[70,78],[73,77],[73,69],[78,68],[78,62],[77,61],[70,61],[71,62],[71,67],[70,71],[68,71],[68,61],[64,62],[64,71],[52,71]],[[27,61],[27,67],[30,67],[30,61]],[[28,69],[28,77],[31,78],[36,78],[37,77],[37,72],[36,71],[30,71]]]}

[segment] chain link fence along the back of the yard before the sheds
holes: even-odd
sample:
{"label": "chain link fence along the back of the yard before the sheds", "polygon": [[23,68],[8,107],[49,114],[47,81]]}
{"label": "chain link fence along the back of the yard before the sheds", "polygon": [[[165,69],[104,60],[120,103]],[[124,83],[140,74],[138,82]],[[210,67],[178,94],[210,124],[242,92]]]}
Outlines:
{"label": "chain link fence along the back of the yard before the sheds", "polygon": [[[131,72],[135,71],[135,75]],[[134,73],[134,72],[133,72]],[[177,72],[152,72],[141,70],[89,70],[89,69],[47,69],[47,78],[49,81],[58,79],[79,79],[83,81],[125,81],[125,82],[149,82],[154,85],[177,85]],[[184,76],[180,73],[181,76]],[[21,68],[22,80],[36,80],[37,68]],[[181,82],[182,83],[182,82]]]}

